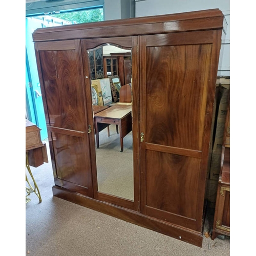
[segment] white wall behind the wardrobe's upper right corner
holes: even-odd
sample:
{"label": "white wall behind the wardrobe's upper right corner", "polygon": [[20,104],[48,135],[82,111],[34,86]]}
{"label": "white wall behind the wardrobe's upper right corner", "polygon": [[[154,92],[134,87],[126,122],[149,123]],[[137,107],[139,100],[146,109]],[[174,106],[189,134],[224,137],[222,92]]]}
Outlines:
{"label": "white wall behind the wardrobe's upper right corner", "polygon": [[229,33],[229,0],[135,0],[135,16],[152,16],[180,12],[220,9],[227,22],[226,34],[222,33],[222,45],[218,68],[219,76],[230,75],[230,33]]}

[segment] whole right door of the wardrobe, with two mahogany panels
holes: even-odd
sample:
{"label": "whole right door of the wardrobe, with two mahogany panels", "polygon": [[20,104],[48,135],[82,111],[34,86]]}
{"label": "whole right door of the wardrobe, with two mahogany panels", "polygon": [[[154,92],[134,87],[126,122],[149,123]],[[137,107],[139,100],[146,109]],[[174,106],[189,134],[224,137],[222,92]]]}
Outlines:
{"label": "whole right door of the wardrobe, with two mahogany panels", "polygon": [[141,211],[197,231],[217,75],[216,35],[140,38]]}

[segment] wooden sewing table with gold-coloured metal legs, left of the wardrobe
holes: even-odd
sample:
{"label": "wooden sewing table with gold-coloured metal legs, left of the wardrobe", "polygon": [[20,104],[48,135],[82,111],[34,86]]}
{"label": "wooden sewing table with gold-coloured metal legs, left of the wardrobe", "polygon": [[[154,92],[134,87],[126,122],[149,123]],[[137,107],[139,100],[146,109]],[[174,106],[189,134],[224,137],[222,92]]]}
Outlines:
{"label": "wooden sewing table with gold-coloured metal legs, left of the wardrobe", "polygon": [[[26,119],[26,203],[31,199],[28,196],[31,193],[35,193],[39,199],[39,203],[42,201],[39,188],[31,172],[30,166],[38,167],[43,163],[48,163],[46,143],[42,143],[40,136],[40,129],[36,124]],[[27,175],[28,173],[28,175]]]}

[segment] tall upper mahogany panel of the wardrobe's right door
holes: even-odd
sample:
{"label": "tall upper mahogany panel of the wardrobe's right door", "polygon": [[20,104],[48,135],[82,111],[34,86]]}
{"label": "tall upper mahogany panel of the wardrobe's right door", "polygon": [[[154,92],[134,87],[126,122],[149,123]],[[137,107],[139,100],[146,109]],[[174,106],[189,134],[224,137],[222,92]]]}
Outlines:
{"label": "tall upper mahogany panel of the wardrobe's right door", "polygon": [[146,56],[147,143],[200,151],[211,45],[147,47]]}

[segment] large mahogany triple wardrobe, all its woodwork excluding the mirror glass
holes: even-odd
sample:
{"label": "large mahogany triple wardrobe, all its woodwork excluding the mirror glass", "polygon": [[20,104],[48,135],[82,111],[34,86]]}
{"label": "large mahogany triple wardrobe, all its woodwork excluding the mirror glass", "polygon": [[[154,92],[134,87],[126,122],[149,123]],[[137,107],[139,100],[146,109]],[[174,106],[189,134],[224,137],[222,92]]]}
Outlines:
{"label": "large mahogany triple wardrobe, all its woodwork excluding the mirror glass", "polygon": [[[35,30],[53,195],[202,246],[222,28],[212,9]],[[132,50],[134,200],[97,186],[88,50],[105,44]]]}

